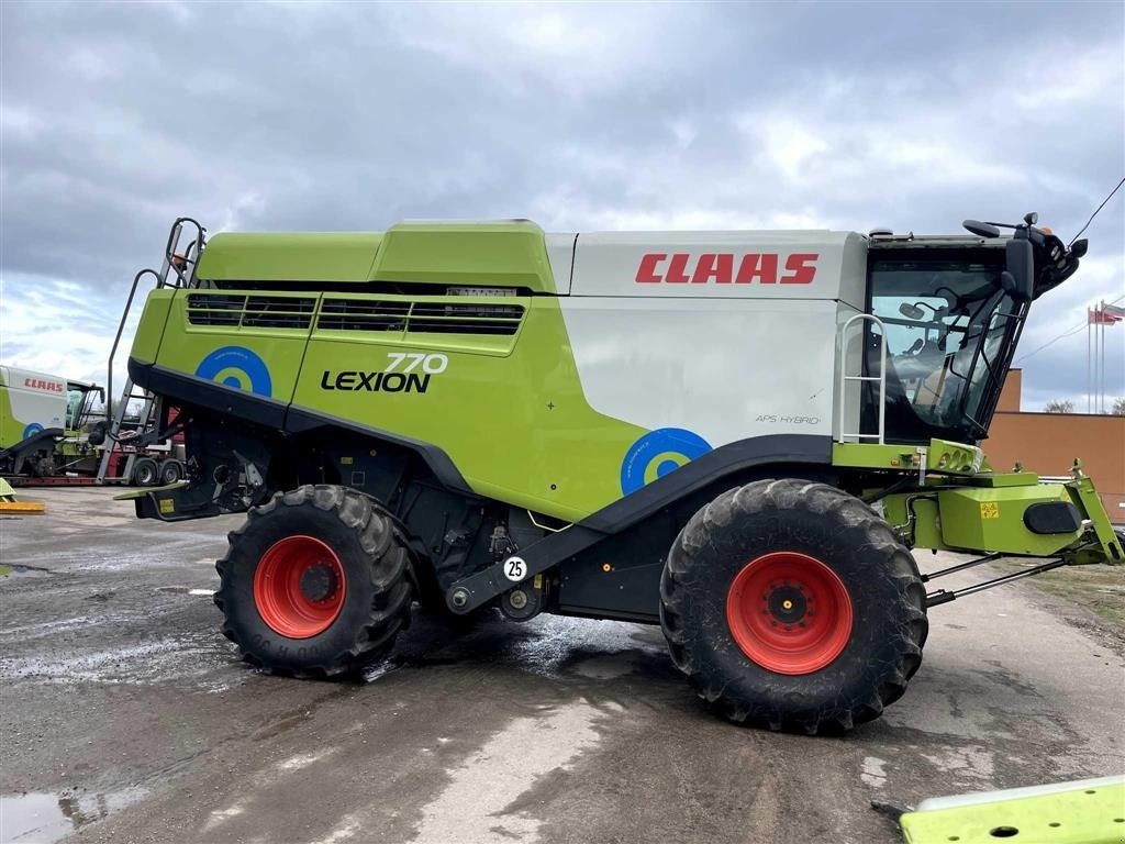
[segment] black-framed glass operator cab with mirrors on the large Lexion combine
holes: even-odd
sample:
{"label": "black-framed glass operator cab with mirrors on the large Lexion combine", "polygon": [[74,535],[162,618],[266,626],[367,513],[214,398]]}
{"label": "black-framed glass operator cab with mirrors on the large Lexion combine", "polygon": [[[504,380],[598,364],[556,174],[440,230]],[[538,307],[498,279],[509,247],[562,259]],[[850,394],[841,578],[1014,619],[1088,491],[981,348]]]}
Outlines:
{"label": "black-framed glass operator cab with mirrors on the large Lexion combine", "polygon": [[[976,442],[989,422],[1030,303],[1078,269],[1087,242],[1066,249],[1035,215],[999,236],[998,224],[965,221],[973,237],[872,236],[867,260],[864,369],[878,376],[886,344],[884,439]],[[879,417],[878,381],[866,381],[863,425]]]}

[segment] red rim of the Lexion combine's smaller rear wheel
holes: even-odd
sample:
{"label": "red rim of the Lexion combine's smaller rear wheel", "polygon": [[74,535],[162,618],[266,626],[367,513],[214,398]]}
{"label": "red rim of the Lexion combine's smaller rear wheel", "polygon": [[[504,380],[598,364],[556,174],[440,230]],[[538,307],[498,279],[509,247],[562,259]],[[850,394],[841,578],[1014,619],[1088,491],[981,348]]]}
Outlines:
{"label": "red rim of the Lexion combine's smaller rear wheel", "polygon": [[290,639],[324,632],[344,605],[340,557],[315,537],[279,539],[258,562],[254,604],[270,629]]}

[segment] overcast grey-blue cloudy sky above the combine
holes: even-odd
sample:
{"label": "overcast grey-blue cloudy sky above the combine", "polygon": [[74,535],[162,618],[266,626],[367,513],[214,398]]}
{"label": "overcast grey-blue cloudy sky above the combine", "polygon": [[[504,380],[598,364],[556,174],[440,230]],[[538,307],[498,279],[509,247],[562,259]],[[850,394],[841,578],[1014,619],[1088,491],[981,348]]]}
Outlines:
{"label": "overcast grey-blue cloudy sky above the combine", "polygon": [[[181,214],[952,233],[1037,210],[1070,240],[1125,176],[1123,9],[0,0],[0,362],[104,383]],[[1032,309],[1026,407],[1086,407],[1123,205]],[[1125,323],[1106,335],[1125,395]]]}

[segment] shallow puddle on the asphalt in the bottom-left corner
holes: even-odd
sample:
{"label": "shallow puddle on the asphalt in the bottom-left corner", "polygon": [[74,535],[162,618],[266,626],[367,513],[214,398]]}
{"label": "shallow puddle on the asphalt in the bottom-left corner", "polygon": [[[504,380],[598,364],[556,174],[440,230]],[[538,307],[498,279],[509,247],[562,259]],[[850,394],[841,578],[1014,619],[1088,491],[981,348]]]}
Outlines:
{"label": "shallow puddle on the asphalt in the bottom-left corner", "polygon": [[0,841],[50,844],[148,793],[133,787],[109,793],[64,791],[0,794]]}

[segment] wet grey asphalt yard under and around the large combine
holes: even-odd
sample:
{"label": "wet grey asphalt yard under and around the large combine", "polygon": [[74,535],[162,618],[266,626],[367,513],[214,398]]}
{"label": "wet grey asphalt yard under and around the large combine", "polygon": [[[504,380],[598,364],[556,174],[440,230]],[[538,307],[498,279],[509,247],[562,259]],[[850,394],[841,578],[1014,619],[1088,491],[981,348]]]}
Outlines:
{"label": "wet grey asphalt yard under and around the large combine", "polygon": [[256,673],[210,599],[240,519],[111,495],[0,517],[4,842],[898,842],[872,800],[1125,770],[1120,638],[1024,584],[933,610],[907,695],[809,738],[719,720],[637,625],[420,614],[362,682]]}

